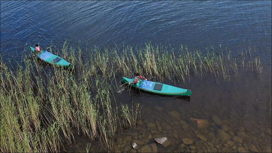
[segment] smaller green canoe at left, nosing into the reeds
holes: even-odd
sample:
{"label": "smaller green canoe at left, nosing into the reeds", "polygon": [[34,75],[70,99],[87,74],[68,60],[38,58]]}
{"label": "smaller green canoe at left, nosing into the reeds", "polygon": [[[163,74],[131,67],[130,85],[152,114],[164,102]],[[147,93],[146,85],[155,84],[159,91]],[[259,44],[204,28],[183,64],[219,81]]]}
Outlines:
{"label": "smaller green canoe at left, nosing into the reeds", "polygon": [[[34,53],[35,48],[30,47],[30,49],[31,49],[31,52]],[[58,57],[57,55],[51,54],[50,52],[46,50],[45,51],[42,50],[41,52],[37,53],[36,56],[47,63],[53,64],[59,67],[69,68],[69,69],[73,68],[73,65],[65,61],[63,58]]]}

